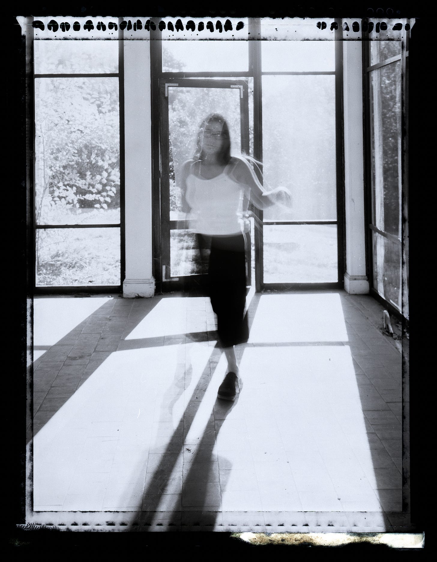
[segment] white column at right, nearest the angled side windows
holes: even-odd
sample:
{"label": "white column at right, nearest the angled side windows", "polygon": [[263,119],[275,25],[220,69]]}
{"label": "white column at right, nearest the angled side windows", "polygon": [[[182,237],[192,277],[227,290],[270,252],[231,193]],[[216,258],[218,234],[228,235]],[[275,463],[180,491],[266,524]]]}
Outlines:
{"label": "white column at right, nearest the angled side windows", "polygon": [[343,41],[346,273],[348,293],[368,293],[364,224],[363,80],[360,41]]}

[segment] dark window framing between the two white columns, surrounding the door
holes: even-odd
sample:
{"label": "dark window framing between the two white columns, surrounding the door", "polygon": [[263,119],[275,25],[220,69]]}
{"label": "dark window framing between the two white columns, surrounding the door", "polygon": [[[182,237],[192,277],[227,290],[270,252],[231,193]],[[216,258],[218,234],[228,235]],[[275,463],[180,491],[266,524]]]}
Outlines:
{"label": "dark window framing between the two white columns, surrounding the door", "polygon": [[[263,224],[288,225],[288,224],[336,224],[337,226],[337,281],[326,283],[264,283],[263,281],[263,232],[261,228],[255,228],[255,290],[263,292],[269,290],[287,291],[290,289],[342,289],[344,287],[345,273],[345,188],[344,188],[344,135],[343,135],[343,33],[341,20],[337,22],[335,31],[335,69],[334,71],[262,71],[261,43],[260,40],[250,40],[249,43],[249,68],[247,71],[229,72],[168,72],[162,70],[162,48],[161,32],[158,29],[160,18],[154,19],[156,30],[150,31],[150,59],[151,59],[151,104],[152,104],[152,147],[161,146],[159,138],[160,112],[159,112],[159,82],[160,80],[196,79],[196,78],[241,78],[253,79],[254,84],[254,157],[262,162],[262,77],[263,75],[334,75],[335,76],[335,129],[336,129],[336,207],[337,218],[335,221],[263,221],[263,212],[254,209],[254,214]],[[260,18],[249,18],[249,30],[255,36],[255,30],[259,29]],[[152,149],[152,236],[153,236],[153,275],[155,277],[156,292],[172,290],[168,282],[163,280],[162,274],[162,248],[161,248],[161,224],[160,224],[160,158],[157,151]],[[262,166],[261,166],[262,168]],[[255,173],[260,178],[258,170]],[[258,248],[258,251],[256,249]],[[175,290],[175,288],[173,289]]]}

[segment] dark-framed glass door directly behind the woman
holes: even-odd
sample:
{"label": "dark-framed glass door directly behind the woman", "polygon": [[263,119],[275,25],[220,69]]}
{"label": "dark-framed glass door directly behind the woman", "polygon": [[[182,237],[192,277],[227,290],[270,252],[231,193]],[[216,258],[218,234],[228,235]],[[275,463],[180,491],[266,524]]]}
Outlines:
{"label": "dark-framed glass door directly behind the woman", "polygon": [[[196,149],[202,121],[223,115],[231,134],[231,154],[249,154],[249,94],[246,80],[160,80],[161,287],[174,291],[200,287],[202,261],[196,237],[181,212],[180,169]],[[247,285],[251,251],[247,247]]]}

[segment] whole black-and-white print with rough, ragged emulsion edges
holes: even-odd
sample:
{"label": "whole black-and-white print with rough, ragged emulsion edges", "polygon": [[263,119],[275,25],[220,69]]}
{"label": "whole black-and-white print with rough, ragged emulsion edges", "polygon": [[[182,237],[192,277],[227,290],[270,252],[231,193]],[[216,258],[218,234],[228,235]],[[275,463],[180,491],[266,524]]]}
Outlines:
{"label": "whole black-and-white print with rough, ragged emulsion edges", "polygon": [[415,18],[118,11],[16,15],[20,523],[423,548]]}

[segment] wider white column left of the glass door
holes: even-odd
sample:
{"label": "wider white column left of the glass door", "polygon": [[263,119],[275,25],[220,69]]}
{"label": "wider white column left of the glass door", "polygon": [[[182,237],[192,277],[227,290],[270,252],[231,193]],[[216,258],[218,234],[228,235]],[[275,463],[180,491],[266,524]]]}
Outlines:
{"label": "wider white column left of the glass door", "polygon": [[152,297],[150,42],[124,41],[124,297]]}

